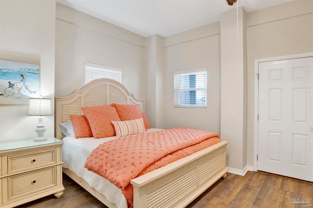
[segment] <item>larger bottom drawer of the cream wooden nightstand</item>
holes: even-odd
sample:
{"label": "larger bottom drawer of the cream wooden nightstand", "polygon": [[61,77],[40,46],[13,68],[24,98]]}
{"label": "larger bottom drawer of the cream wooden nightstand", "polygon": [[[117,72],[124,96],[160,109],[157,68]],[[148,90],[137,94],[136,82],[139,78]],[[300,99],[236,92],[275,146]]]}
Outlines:
{"label": "larger bottom drawer of the cream wooden nightstand", "polygon": [[8,177],[8,200],[56,186],[56,167]]}

